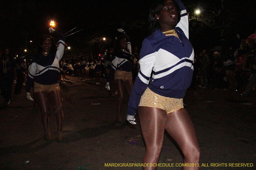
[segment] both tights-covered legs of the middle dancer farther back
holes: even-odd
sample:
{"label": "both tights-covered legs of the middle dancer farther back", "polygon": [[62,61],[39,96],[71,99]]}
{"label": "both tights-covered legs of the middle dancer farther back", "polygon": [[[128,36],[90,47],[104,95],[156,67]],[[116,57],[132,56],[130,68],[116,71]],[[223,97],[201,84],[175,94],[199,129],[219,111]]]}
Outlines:
{"label": "both tights-covered legs of the middle dancer farther back", "polygon": [[133,80],[128,79],[126,81],[123,81],[121,79],[116,79],[115,84],[116,84],[116,90],[118,93],[118,100],[117,100],[117,104],[116,104],[117,117],[120,117],[121,110],[122,110],[122,104],[123,104],[123,100],[124,100],[124,86],[125,86],[128,94],[130,95],[132,92]]}

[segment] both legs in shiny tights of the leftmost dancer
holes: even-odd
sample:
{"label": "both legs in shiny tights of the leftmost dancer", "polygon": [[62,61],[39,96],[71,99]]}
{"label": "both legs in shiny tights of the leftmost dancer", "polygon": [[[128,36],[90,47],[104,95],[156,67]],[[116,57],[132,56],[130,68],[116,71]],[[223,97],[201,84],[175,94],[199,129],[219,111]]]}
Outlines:
{"label": "both legs in shiny tights of the leftmost dancer", "polygon": [[60,90],[54,90],[49,93],[47,92],[35,92],[36,102],[41,110],[41,119],[44,126],[44,131],[49,131],[49,118],[50,118],[50,105],[52,106],[53,112],[55,113],[58,134],[62,131],[63,125],[63,110],[61,103],[61,93]]}

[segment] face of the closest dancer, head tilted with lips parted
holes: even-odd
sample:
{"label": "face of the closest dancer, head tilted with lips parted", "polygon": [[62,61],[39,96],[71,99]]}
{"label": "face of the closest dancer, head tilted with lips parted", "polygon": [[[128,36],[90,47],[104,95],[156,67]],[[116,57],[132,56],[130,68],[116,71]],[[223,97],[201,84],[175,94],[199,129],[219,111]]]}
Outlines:
{"label": "face of the closest dancer, head tilted with lips parted", "polygon": [[161,26],[161,31],[169,31],[175,29],[178,22],[178,10],[172,2],[164,3],[162,11],[156,14],[158,22]]}

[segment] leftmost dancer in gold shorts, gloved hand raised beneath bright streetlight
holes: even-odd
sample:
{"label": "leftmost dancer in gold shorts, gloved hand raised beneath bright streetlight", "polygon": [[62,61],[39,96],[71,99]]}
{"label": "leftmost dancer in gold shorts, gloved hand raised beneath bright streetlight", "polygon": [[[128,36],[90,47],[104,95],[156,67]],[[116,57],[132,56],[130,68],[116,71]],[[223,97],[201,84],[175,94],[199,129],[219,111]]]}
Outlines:
{"label": "leftmost dancer in gold shorts, gloved hand raised beneath bright streetlight", "polygon": [[36,102],[41,109],[41,119],[45,131],[45,139],[51,140],[51,133],[49,130],[49,118],[50,118],[50,105],[55,113],[57,124],[58,124],[58,141],[62,141],[62,125],[63,125],[63,110],[61,103],[60,86],[58,83],[58,77],[60,74],[59,62],[64,53],[65,48],[65,37],[54,30],[52,27],[49,28],[50,33],[54,33],[58,38],[57,49],[55,41],[50,35],[44,35],[40,43],[41,51],[33,57],[28,67],[28,80],[26,85],[27,98],[32,100],[30,96],[30,89],[33,81],[34,95]]}

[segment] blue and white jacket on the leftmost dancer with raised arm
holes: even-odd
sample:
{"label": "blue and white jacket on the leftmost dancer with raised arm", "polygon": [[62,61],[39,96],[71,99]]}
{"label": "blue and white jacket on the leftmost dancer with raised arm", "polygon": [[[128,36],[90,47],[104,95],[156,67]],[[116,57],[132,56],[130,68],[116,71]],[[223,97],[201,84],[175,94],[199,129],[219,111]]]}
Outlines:
{"label": "blue and white jacket on the leftmost dancer with raised arm", "polygon": [[[29,92],[33,81],[42,85],[53,85],[58,83],[60,75],[60,59],[64,53],[65,37],[57,30],[54,34],[59,38],[57,43],[57,51],[44,56],[42,53],[34,56],[28,67],[28,80],[26,84],[26,92]],[[55,45],[55,44],[52,44]]]}

